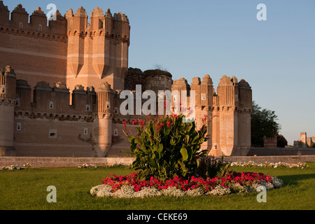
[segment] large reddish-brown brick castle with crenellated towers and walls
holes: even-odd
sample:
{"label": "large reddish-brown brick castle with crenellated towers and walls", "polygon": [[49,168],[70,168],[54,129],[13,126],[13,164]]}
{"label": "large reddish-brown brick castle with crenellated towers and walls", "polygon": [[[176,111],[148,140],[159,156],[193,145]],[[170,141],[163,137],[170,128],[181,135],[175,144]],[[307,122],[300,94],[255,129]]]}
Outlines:
{"label": "large reddish-brown brick castle with crenellated towers and walls", "polygon": [[[5,156],[120,156],[123,134],[144,115],[120,113],[123,90],[195,90],[197,125],[210,118],[211,155],[246,155],[251,146],[251,87],[223,76],[215,91],[209,75],[191,85],[160,70],[128,68],[130,23],[123,13],[95,8],[57,10],[49,20],[0,1],[0,149]],[[189,98],[189,100],[192,100]],[[180,101],[181,99],[179,99]],[[189,101],[188,100],[188,101]],[[142,99],[144,103],[145,100]],[[174,102],[172,102],[174,108]]]}

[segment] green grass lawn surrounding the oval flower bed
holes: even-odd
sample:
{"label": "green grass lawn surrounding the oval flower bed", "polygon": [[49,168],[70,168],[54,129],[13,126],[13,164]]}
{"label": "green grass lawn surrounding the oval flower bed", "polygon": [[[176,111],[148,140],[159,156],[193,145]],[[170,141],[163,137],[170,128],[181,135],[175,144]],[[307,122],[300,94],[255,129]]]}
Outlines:
{"label": "green grass lawn surrounding the oval flower bed", "polygon": [[[42,168],[0,171],[1,210],[209,210],[209,209],[315,209],[315,163],[307,169],[233,167],[239,172],[277,176],[284,186],[267,191],[267,202],[258,193],[221,197],[157,197],[137,199],[97,198],[90,189],[111,174],[126,175],[129,168]],[[48,203],[48,186],[57,189],[57,202]]]}

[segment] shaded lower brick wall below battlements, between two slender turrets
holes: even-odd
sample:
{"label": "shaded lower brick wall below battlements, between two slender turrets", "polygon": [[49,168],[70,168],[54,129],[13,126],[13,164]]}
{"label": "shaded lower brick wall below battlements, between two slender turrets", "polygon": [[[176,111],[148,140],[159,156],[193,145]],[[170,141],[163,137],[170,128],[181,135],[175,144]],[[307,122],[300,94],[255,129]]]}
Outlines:
{"label": "shaded lower brick wall below battlements, between two slender turrets", "polygon": [[[16,156],[94,157],[92,123],[15,117]],[[18,130],[19,127],[19,130]]]}

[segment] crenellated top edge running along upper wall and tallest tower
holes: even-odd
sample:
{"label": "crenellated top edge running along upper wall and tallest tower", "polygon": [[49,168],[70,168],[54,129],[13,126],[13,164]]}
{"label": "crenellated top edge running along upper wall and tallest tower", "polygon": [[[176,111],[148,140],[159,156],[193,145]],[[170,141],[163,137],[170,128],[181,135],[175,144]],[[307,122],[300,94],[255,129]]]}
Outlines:
{"label": "crenellated top edge running along upper wall and tallest tower", "polygon": [[76,13],[73,13],[71,8],[64,16],[57,10],[53,17],[54,19],[48,22],[47,16],[40,7],[29,16],[21,4],[10,13],[8,6],[4,6],[3,1],[0,1],[0,29],[3,32],[55,40],[59,38],[62,41],[65,39],[60,36],[79,35],[84,38],[106,35],[122,38],[129,44],[130,25],[127,15],[123,13],[112,15],[111,10],[107,9],[104,15],[102,8],[97,7],[92,10],[88,23],[87,13],[83,7],[80,7]]}

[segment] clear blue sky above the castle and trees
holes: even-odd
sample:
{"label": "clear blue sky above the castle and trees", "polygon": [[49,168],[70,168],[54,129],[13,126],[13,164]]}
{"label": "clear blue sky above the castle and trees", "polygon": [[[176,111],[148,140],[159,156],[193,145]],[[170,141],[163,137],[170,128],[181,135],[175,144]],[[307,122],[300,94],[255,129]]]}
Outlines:
{"label": "clear blue sky above the castle and trees", "polygon": [[[131,26],[129,66],[142,71],[157,66],[173,79],[209,74],[215,88],[223,75],[244,78],[253,100],[276,111],[288,144],[300,132],[315,137],[314,0],[4,0],[29,14],[39,6],[47,14],[55,3],[64,15],[83,6],[90,15],[122,12]],[[259,3],[267,20],[258,21]]]}

